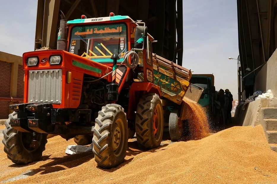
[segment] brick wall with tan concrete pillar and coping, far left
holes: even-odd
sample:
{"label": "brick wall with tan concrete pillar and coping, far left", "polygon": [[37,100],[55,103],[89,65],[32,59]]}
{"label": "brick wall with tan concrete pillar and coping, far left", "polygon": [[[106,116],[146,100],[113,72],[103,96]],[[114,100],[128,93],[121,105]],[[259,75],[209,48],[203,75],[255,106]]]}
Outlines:
{"label": "brick wall with tan concrete pillar and coping, far left", "polygon": [[[0,51],[0,97],[23,98],[22,57]],[[8,119],[9,103],[0,101],[0,119]]]}

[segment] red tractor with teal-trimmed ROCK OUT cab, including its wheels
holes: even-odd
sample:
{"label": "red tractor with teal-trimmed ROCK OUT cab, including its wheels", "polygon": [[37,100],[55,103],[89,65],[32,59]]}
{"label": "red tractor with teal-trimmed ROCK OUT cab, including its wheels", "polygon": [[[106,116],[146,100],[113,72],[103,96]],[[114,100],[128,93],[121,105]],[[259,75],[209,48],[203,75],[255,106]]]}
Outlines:
{"label": "red tractor with teal-trimmed ROCK OUT cab, including its wheels", "polygon": [[9,106],[7,157],[17,164],[39,160],[47,134],[93,142],[102,168],[124,161],[135,133],[142,149],[160,146],[163,107],[145,24],[113,13],[71,21],[60,15],[57,50],[23,54],[24,103]]}

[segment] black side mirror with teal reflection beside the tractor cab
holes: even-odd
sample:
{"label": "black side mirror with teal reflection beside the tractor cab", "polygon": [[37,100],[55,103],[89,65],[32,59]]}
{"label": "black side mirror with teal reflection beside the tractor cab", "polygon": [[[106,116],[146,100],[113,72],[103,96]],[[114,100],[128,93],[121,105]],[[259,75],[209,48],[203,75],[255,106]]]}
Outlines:
{"label": "black side mirror with teal reflection beside the tractor cab", "polygon": [[136,26],[136,32],[135,32],[135,49],[144,49],[146,48],[147,44],[147,27],[138,25]]}

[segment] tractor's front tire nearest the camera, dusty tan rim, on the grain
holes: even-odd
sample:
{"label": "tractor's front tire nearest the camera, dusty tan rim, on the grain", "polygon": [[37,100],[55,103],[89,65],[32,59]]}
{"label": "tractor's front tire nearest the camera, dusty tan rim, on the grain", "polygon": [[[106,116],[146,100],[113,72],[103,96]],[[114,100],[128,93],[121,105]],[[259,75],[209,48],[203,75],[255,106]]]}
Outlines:
{"label": "tractor's front tire nearest the camera, dusty tan rim, on the grain", "polygon": [[92,142],[98,167],[108,169],[124,161],[128,144],[128,123],[120,105],[107,104],[98,112]]}

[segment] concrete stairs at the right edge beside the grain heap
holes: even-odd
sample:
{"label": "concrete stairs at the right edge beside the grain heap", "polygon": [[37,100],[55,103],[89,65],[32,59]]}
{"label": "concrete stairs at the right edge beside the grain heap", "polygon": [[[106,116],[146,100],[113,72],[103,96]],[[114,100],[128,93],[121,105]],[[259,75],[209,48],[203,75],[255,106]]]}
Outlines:
{"label": "concrete stairs at the right edge beside the grain heap", "polygon": [[263,107],[261,110],[261,124],[265,131],[265,137],[270,148],[277,152],[277,108]]}

